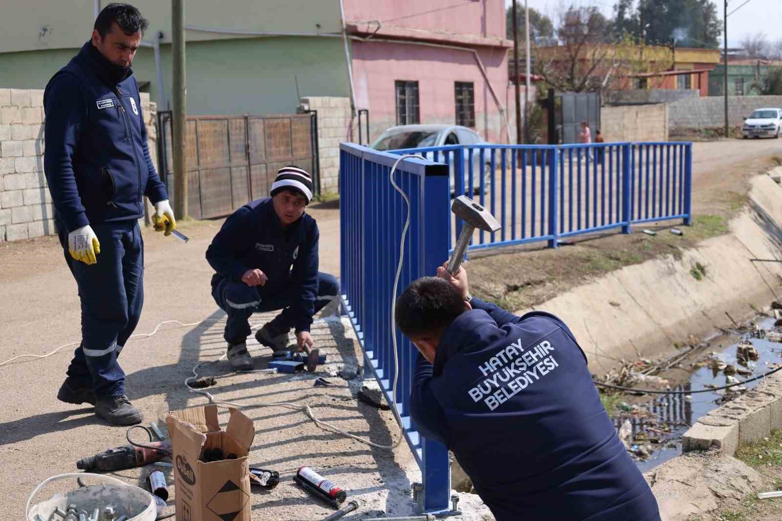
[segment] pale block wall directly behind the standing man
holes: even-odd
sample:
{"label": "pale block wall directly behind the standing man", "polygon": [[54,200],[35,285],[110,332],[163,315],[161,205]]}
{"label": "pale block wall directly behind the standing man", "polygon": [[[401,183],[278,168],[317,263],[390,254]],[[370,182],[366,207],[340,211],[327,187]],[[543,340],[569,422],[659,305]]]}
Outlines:
{"label": "pale block wall directly behind the standing man", "polygon": [[[56,233],[44,174],[43,99],[42,90],[0,88],[0,241]],[[157,108],[149,94],[142,93],[142,111],[157,163]]]}

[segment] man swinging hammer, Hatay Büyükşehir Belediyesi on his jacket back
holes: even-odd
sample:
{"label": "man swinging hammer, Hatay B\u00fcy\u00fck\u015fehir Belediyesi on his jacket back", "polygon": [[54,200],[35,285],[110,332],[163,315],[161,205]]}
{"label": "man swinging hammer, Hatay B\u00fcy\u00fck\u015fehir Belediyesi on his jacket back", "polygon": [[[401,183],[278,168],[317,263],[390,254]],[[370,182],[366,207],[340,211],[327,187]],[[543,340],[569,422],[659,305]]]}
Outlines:
{"label": "man swinging hammer, Hatay B\u00fcy\u00fck\u015fehir Belediyesi on his jacket back", "polygon": [[411,415],[497,521],[659,521],[568,326],[472,298],[464,268],[437,271],[396,300],[396,325],[421,354]]}

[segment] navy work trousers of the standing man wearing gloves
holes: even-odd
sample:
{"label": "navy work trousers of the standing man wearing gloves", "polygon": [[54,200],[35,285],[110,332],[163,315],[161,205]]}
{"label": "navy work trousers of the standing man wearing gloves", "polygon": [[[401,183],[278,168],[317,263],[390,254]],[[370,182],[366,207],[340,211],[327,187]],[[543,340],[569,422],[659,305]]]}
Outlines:
{"label": "navy work trousers of the standing man wearing gloves", "polygon": [[95,396],[125,393],[125,373],[117,357],[133,334],[144,303],[144,243],[138,221],[91,225],[100,242],[96,264],[74,260],[68,232],[58,221],[65,260],[81,300],[81,345],[74,351],[67,375],[72,387],[91,387]]}

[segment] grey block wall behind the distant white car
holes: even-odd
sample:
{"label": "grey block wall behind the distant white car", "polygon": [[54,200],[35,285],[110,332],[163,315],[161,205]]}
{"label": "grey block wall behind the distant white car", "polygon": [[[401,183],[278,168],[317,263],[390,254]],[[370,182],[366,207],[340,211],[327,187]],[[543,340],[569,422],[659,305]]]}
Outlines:
{"label": "grey block wall behind the distant white car", "polygon": [[[782,96],[729,96],[728,123],[741,125],[752,110],[766,106],[782,107]],[[672,133],[722,128],[725,125],[725,101],[721,96],[680,99],[669,104],[668,121]]]}

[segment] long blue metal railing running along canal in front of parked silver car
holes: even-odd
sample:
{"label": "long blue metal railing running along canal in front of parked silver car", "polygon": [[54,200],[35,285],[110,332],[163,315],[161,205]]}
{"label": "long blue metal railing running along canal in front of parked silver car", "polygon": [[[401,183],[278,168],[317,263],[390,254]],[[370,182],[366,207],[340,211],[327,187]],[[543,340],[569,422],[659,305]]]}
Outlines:
{"label": "long blue metal railing running along canal in front of parked silver car", "polygon": [[[469,250],[558,240],[650,221],[691,222],[692,144],[439,146],[395,150],[449,167],[450,192],[465,193],[500,221],[475,232]],[[451,217],[450,243],[461,232]]]}

